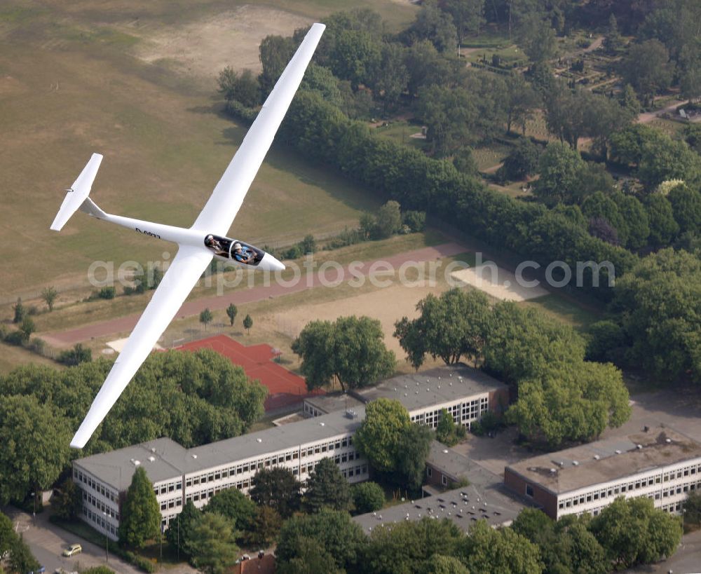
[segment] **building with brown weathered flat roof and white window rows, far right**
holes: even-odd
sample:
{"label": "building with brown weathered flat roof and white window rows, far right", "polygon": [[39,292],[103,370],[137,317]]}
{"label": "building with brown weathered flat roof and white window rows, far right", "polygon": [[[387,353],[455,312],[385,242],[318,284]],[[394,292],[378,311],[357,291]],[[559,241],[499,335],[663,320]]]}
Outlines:
{"label": "building with brown weathered flat roof and white window rows, far right", "polygon": [[658,427],[522,460],[505,468],[504,483],[553,519],[596,516],[618,496],[680,512],[701,488],[701,444]]}

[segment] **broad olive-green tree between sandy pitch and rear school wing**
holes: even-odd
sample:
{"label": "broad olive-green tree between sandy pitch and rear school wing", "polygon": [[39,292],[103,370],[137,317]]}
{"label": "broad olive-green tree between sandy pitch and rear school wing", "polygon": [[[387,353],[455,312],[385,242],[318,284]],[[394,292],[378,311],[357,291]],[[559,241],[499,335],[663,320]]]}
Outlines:
{"label": "broad olive-green tree between sandy pitch and rear school wing", "polygon": [[450,289],[440,297],[429,294],[416,305],[421,315],[395,323],[394,336],[407,352],[416,369],[426,353],[440,357],[445,364],[456,364],[461,357],[477,357],[482,353],[489,300],[484,293]]}

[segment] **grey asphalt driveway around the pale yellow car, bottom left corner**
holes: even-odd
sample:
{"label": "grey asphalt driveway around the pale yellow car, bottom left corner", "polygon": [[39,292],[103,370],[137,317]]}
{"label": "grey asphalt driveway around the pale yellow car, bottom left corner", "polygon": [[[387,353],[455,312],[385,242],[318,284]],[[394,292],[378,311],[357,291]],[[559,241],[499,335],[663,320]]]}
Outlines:
{"label": "grey asphalt driveway around the pale yellow car, bottom left corner", "polygon": [[[15,531],[22,535],[29,548],[32,549],[32,554],[34,554],[41,566],[46,568],[47,573],[53,573],[56,568],[63,568],[67,572],[72,572],[93,566],[108,566],[119,574],[137,574],[141,572],[141,570],[117,558],[111,552],[106,563],[104,546],[94,545],[92,542],[83,540],[50,523],[48,521],[50,514],[48,509],[37,514],[36,519],[32,519],[31,515],[12,506],[4,508],[3,512],[13,521]],[[83,547],[81,554],[72,558],[61,556],[61,552],[65,547],[76,543]],[[109,541],[110,547],[114,544],[116,542]],[[189,574],[195,573],[197,570],[183,563],[176,568],[170,568],[168,572],[170,574]]]}

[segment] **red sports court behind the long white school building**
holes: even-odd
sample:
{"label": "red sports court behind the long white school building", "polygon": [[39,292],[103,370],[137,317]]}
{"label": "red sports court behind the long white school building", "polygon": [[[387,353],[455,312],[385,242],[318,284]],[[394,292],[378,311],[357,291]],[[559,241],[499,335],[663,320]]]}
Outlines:
{"label": "red sports court behind the long white school building", "polygon": [[265,343],[243,346],[226,335],[215,335],[201,341],[193,341],[177,347],[182,350],[212,349],[223,355],[233,364],[243,367],[250,378],[257,378],[268,389],[265,399],[266,411],[301,403],[306,397],[323,395],[317,389],[309,392],[304,378],[290,373],[273,361],[273,348]]}

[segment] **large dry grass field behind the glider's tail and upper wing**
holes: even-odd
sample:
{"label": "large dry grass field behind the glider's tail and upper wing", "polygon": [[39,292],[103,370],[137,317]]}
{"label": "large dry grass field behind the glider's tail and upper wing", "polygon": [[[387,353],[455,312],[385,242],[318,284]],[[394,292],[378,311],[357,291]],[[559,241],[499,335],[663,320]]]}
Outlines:
{"label": "large dry grass field behind the glider's tail and upper wing", "polygon": [[[90,153],[105,158],[93,198],[103,209],[189,226],[236,151],[245,130],[220,114],[214,80],[144,62],[142,34],[176,29],[243,3],[20,2],[0,8],[0,278],[5,301],[17,294],[85,282],[95,260],[146,261],[170,245],[77,214],[62,233],[48,226],[64,188]],[[373,6],[395,25],[415,8]],[[336,9],[335,1],[279,1],[273,32]],[[284,26],[289,13],[290,26]],[[134,22],[137,22],[135,24]],[[283,22],[281,24],[280,22]],[[131,26],[131,28],[130,28]],[[266,35],[264,27],[250,34]],[[245,38],[243,39],[245,42]],[[256,43],[255,38],[252,43]],[[231,61],[236,60],[236,51]],[[254,243],[285,243],[339,231],[376,207],[358,186],[276,148],[268,155],[233,233]],[[40,263],[39,263],[40,262]]]}

